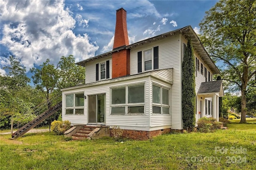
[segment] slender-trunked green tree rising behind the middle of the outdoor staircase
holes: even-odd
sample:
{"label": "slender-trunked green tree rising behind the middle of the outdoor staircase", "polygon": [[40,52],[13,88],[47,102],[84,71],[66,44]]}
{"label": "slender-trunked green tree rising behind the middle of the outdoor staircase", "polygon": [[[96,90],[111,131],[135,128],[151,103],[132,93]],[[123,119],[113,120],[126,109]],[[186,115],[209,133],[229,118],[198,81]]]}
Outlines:
{"label": "slender-trunked green tree rising behind the middle of the outdoor staircase", "polygon": [[40,69],[33,67],[30,69],[32,75],[32,79],[34,84],[36,85],[36,89],[39,89],[44,93],[46,101],[48,101],[48,108],[50,108],[50,95],[56,89],[57,81],[58,81],[58,71],[54,68],[53,64],[50,64],[50,59],[46,59],[42,65],[40,65]]}

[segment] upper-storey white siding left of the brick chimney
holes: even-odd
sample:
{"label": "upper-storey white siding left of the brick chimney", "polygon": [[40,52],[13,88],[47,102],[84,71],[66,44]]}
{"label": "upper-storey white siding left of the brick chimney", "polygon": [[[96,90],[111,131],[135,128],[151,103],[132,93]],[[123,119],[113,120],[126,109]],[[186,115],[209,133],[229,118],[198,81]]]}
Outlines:
{"label": "upper-storey white siding left of the brick chimney", "polygon": [[[99,64],[99,80],[100,80],[100,63],[106,63],[106,61],[109,60],[109,78],[112,78],[112,57],[104,57],[100,59],[94,59],[93,61],[90,61],[89,63],[86,63],[85,66],[85,83],[92,83],[96,82],[96,64]],[[105,71],[106,73],[106,71]],[[106,76],[106,75],[105,75]]]}

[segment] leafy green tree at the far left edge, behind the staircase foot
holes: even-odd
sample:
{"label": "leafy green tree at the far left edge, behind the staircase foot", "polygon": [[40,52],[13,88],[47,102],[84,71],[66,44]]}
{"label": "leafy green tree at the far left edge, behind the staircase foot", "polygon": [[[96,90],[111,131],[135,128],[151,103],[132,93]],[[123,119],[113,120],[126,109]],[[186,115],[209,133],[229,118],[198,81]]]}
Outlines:
{"label": "leafy green tree at the far left edge, behind the staircase foot", "polygon": [[26,67],[12,56],[9,60],[10,66],[4,67],[6,75],[0,74],[0,128],[10,128],[11,117],[24,121],[33,117],[32,102],[22,96],[24,93],[29,96],[23,89],[31,88],[27,85],[30,79],[26,76]]}

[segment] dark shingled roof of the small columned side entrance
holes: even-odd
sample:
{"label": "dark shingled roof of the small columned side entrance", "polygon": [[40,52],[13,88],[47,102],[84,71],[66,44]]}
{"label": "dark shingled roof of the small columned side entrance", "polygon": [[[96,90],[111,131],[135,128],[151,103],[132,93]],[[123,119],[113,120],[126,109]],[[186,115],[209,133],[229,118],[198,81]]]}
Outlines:
{"label": "dark shingled roof of the small columned side entrance", "polygon": [[202,82],[197,94],[223,92],[222,80]]}

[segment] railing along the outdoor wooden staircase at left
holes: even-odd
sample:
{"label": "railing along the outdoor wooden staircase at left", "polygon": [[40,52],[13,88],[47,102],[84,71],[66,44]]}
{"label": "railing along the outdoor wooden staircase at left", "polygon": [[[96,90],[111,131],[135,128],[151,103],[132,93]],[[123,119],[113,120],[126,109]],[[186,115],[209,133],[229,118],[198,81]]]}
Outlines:
{"label": "railing along the outdoor wooden staircase at left", "polygon": [[[57,103],[59,103],[60,101],[62,101],[62,93],[59,92],[56,95],[52,96],[50,99],[48,99],[48,101],[44,101],[43,103],[37,105],[36,107],[34,107],[32,109],[32,113],[28,112],[25,113],[24,115],[11,120],[11,132],[13,134],[13,129],[17,129],[17,131],[19,130],[19,127],[22,127],[23,125],[26,125],[28,122],[30,122],[32,119],[34,119],[35,117],[39,116],[40,114],[44,113],[47,109],[49,109],[50,107],[56,105]],[[30,118],[31,115],[34,115],[34,117]]]}

